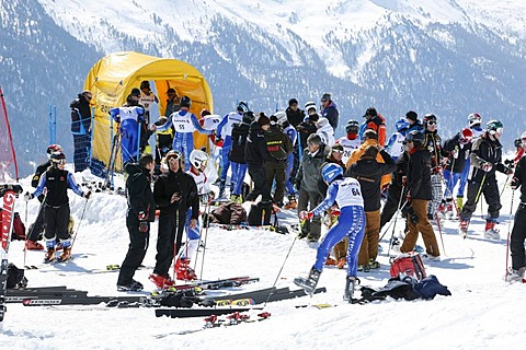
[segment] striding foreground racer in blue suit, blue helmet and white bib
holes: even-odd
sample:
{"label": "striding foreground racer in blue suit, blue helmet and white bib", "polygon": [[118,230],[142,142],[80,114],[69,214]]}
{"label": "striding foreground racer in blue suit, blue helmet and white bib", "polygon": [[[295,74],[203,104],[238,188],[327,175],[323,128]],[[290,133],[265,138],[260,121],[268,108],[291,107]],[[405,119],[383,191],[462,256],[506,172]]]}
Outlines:
{"label": "striding foreground racer in blue suit, blue helmet and white bib", "polygon": [[321,170],[323,180],[329,185],[325,199],[312,211],[301,211],[301,220],[307,220],[313,215],[320,215],[328,210],[334,202],[340,207],[340,219],[323,237],[316,262],[312,266],[308,278],[296,278],[294,283],[301,287],[307,293],[312,294],[320,279],[321,271],[325,264],[329,252],[332,247],[348,237],[347,249],[347,277],[345,284],[344,300],[352,302],[356,283],[359,283],[356,277],[358,270],[358,252],[364,238],[365,212],[364,199],[357,179],[353,177],[343,177],[343,168],[334,163],[325,164]]}

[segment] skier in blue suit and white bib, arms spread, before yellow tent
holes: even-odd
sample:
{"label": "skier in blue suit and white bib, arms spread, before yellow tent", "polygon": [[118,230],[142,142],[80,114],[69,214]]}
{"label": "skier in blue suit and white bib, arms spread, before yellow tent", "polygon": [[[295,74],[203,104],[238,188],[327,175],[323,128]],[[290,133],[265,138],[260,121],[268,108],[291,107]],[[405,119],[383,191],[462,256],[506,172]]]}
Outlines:
{"label": "skier in blue suit and white bib, arms spread, before yellow tent", "polygon": [[165,131],[172,127],[175,129],[172,150],[181,152],[184,158],[184,168],[190,170],[190,153],[194,150],[194,131],[211,135],[214,130],[203,128],[197,117],[190,112],[192,101],[188,96],[181,97],[181,110],[174,112],[161,126],[151,125],[151,130]]}

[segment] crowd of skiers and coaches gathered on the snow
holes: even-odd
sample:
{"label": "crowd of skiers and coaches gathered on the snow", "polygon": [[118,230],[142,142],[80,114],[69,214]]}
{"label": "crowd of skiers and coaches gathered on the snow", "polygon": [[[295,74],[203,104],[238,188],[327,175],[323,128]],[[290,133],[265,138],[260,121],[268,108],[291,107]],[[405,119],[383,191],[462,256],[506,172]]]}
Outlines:
{"label": "crowd of skiers and coaches gathered on the snow", "polygon": [[[90,91],[84,91],[71,103],[77,172],[89,165],[87,140],[91,139],[92,97]],[[407,218],[407,225],[403,242],[395,244],[398,238],[393,237],[392,248],[412,252],[421,234],[424,258],[439,260],[434,226],[439,229],[444,219],[458,219],[459,233],[466,236],[483,195],[488,203],[484,237],[500,240],[495,225],[502,209],[502,191],[495,172],[508,175],[506,184],[522,191],[510,246],[511,278],[524,278],[526,164],[522,155],[526,132],[515,141],[515,159],[506,161],[500,142],[502,122],[484,124],[477,113],[467,117],[466,127],[443,140],[439,119],[433,114],[420,119],[415,112],[409,110],[393,120],[396,132],[388,137],[389,121],[369,107],[362,122],[346,120],[345,136],[336,139],[340,115],[327,93],[321,96],[319,107],[307,102],[301,109],[298,101],[290,98],[285,110],[267,115],[254,113],[248,103],[240,102],[222,117],[206,109],[199,116],[194,115],[190,112],[191,98],[178,96],[174,89],[167,91],[167,97],[165,113],[156,121],[150,120],[150,108],[159,101],[148,81],[132,90],[124,106],[110,110],[119,125],[118,145],[127,174],[126,226],[130,244],[121,266],[119,291],[144,288],[133,278],[148,248],[156,210],[157,262],[150,280],[159,288],[167,288],[174,283],[169,273],[174,259],[176,279],[197,278],[191,261],[201,238],[203,208],[211,202],[259,201],[270,210],[297,211],[299,238],[318,242],[322,225],[327,226],[309,276],[295,282],[312,291],[324,265],[346,266],[345,295],[352,299],[357,272],[380,267],[377,261],[380,230],[399,212]],[[204,150],[194,149],[196,131],[209,138]],[[155,152],[148,145],[152,135],[156,135]],[[27,200],[37,197],[42,202],[26,247],[43,249],[37,241],[44,230],[45,260],[56,259],[58,243],[62,249],[58,260],[66,261],[71,254],[67,189],[87,200],[91,192],[82,191],[72,174],[64,168],[66,156],[59,145],[50,145],[47,154],[48,162],[38,166],[33,178],[36,189],[26,194]],[[216,160],[217,196],[206,176],[207,165]],[[245,184],[247,172],[250,186]]]}

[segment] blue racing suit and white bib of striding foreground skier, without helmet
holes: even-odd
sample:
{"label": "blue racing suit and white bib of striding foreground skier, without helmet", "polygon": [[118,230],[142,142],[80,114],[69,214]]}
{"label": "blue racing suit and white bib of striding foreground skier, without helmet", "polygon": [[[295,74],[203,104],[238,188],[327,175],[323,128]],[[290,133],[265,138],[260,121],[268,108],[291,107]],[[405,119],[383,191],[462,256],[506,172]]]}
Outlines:
{"label": "blue racing suit and white bib of striding foreground skier, without helmet", "polygon": [[347,277],[356,277],[359,246],[365,231],[364,199],[358,180],[345,177],[332,182],[327,190],[325,199],[312,210],[312,213],[321,215],[334,202],[340,207],[340,219],[321,241],[312,268],[321,272],[332,247],[347,236]]}

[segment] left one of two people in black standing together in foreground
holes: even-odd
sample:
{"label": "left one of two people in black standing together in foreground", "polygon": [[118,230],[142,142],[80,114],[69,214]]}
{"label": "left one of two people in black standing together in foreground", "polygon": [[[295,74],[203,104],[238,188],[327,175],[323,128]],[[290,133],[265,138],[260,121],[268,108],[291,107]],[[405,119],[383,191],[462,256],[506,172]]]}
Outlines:
{"label": "left one of two people in black standing together in foreground", "polygon": [[142,154],[138,163],[130,162],[124,166],[128,174],[126,228],[129,246],[117,279],[117,291],[121,292],[137,292],[144,289],[142,283],[134,280],[134,275],[145,259],[150,241],[150,222],[156,219],[156,202],[150,186],[153,167],[153,155],[150,153]]}

